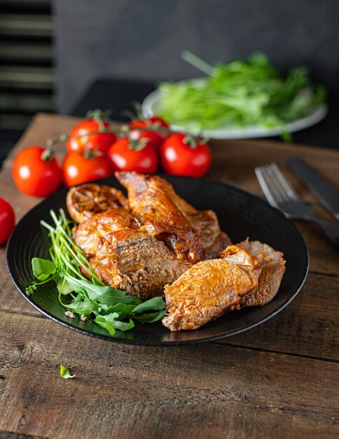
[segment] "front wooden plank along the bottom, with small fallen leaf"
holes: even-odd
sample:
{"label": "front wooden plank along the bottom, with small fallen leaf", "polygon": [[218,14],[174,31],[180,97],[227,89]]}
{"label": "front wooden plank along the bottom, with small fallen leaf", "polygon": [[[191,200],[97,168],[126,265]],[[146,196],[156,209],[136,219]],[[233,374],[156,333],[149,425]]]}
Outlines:
{"label": "front wooden plank along the bottom, with small fallen leaf", "polygon": [[[0,430],[48,438],[333,438],[338,365],[218,344],[122,346],[0,313]],[[76,373],[59,376],[60,364]]]}

